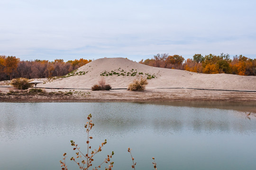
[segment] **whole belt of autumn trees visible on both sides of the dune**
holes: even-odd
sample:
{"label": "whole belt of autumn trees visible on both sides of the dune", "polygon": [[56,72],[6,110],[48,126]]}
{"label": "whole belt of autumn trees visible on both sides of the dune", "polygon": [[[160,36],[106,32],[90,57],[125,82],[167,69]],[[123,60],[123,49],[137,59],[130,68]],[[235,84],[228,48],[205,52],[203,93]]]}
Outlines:
{"label": "whole belt of autumn trees visible on both sides of the dune", "polygon": [[[69,72],[91,62],[91,59],[75,59],[64,62],[63,59],[48,60],[20,60],[15,56],[0,55],[0,81],[12,78],[46,78],[64,76]],[[192,59],[185,60],[180,55],[167,53],[157,54],[152,59],[145,59],[139,63],[159,67],[174,68],[205,74],[236,74],[241,76],[256,76],[256,59],[243,55],[236,55],[230,59],[229,54],[205,55],[195,54]]]}

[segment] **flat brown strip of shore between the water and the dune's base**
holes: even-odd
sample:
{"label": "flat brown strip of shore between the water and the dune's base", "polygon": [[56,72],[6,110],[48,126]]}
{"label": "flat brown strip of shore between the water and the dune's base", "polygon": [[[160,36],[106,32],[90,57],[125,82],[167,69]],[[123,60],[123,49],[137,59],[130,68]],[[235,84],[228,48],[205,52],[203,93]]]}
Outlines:
{"label": "flat brown strip of shore between the water and the dune's base", "polygon": [[[0,92],[3,88],[0,88]],[[256,92],[207,91],[197,89],[151,89],[91,91],[44,89],[44,93],[0,93],[0,102],[256,102]],[[67,93],[71,93],[67,95]]]}

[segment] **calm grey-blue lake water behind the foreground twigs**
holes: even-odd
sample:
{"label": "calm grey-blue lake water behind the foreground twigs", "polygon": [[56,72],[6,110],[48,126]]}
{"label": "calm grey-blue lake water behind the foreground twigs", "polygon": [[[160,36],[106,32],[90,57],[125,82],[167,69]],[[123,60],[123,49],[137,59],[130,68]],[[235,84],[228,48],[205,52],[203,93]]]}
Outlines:
{"label": "calm grey-blue lake water behind the foreground twigs", "polygon": [[0,103],[0,170],[61,170],[63,153],[75,155],[70,140],[85,151],[90,113],[92,148],[108,141],[96,164],[114,151],[114,170],[130,170],[130,147],[137,170],[152,170],[153,156],[158,170],[256,170],[250,110],[256,103]]}

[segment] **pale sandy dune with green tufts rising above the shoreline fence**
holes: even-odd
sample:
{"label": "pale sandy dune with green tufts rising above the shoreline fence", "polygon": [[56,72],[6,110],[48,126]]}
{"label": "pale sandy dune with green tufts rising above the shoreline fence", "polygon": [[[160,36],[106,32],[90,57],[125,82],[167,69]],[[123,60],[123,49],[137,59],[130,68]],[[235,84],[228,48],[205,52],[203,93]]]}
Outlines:
{"label": "pale sandy dune with green tufts rising above the shoreline fence", "polygon": [[127,88],[140,76],[151,78],[150,87],[191,87],[207,89],[256,90],[256,76],[200,74],[184,70],[155,68],[124,58],[96,59],[63,78],[50,80],[41,87],[91,88],[101,78],[112,88]]}

